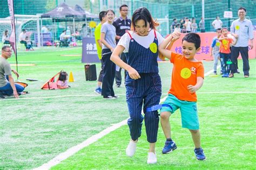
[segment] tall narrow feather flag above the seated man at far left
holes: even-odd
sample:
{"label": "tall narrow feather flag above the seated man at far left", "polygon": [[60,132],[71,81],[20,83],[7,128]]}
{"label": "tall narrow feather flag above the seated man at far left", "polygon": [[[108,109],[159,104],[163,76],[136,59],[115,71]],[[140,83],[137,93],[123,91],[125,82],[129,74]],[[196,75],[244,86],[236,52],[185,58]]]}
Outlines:
{"label": "tall narrow feather flag above the seated man at far left", "polygon": [[10,19],[11,19],[11,36],[9,38],[12,49],[16,54],[16,35],[15,35],[15,23],[14,23],[14,2],[13,0],[8,0]]}

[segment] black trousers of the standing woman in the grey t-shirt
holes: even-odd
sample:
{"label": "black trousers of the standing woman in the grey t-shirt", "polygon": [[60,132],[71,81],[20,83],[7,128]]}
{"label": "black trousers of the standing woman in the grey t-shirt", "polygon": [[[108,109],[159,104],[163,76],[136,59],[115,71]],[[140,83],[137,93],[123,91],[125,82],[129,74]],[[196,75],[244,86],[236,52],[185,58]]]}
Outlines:
{"label": "black trousers of the standing woman in the grey t-shirt", "polygon": [[[102,49],[103,61],[103,79],[102,79],[102,96],[114,96],[113,84],[114,75],[116,74],[116,65],[110,60],[112,53],[110,49]],[[103,55],[105,54],[105,55]]]}

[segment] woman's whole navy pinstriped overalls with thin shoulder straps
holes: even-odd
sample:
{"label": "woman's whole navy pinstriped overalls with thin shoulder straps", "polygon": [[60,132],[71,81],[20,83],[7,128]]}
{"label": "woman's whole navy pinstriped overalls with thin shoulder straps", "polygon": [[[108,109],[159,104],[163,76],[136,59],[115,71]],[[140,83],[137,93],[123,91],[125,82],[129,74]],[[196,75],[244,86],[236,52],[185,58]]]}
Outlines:
{"label": "woman's whole navy pinstriped overalls with thin shoulder straps", "polygon": [[[155,31],[154,35],[153,42],[158,45]],[[129,36],[131,37],[130,33]],[[157,56],[157,51],[153,53],[150,48],[143,47],[131,37],[127,64],[136,69],[141,77],[134,80],[127,74],[125,81],[126,101],[130,113],[127,123],[132,140],[137,140],[142,133],[143,107],[147,141],[149,143],[157,141],[158,111],[146,112],[146,108],[159,104],[161,97],[161,79],[158,74]]]}

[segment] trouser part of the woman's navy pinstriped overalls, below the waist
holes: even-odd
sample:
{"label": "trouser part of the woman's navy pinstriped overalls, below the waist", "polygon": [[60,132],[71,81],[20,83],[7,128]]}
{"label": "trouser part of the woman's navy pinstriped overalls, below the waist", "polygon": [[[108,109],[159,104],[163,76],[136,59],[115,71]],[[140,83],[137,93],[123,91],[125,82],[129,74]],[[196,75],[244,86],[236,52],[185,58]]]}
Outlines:
{"label": "trouser part of the woman's navy pinstriped overalls, below the waist", "polygon": [[[137,140],[142,134],[142,122],[145,117],[147,141],[157,141],[159,116],[158,111],[146,112],[146,108],[157,105],[161,97],[161,79],[158,73],[140,74],[140,79],[134,80],[127,75],[125,81],[126,102],[130,118],[127,123],[132,140]],[[145,116],[142,115],[142,108]]]}

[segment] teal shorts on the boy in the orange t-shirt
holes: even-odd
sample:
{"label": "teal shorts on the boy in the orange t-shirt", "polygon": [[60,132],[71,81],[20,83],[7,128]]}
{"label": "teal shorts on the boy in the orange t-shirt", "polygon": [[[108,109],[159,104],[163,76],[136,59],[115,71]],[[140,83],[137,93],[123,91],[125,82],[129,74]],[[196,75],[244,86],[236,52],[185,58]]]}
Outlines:
{"label": "teal shorts on the boy in the orange t-shirt", "polygon": [[173,114],[177,109],[180,109],[182,128],[199,129],[197,102],[181,101],[176,96],[169,94],[163,104],[169,104],[173,110],[169,107],[163,107],[160,113],[168,111]]}

